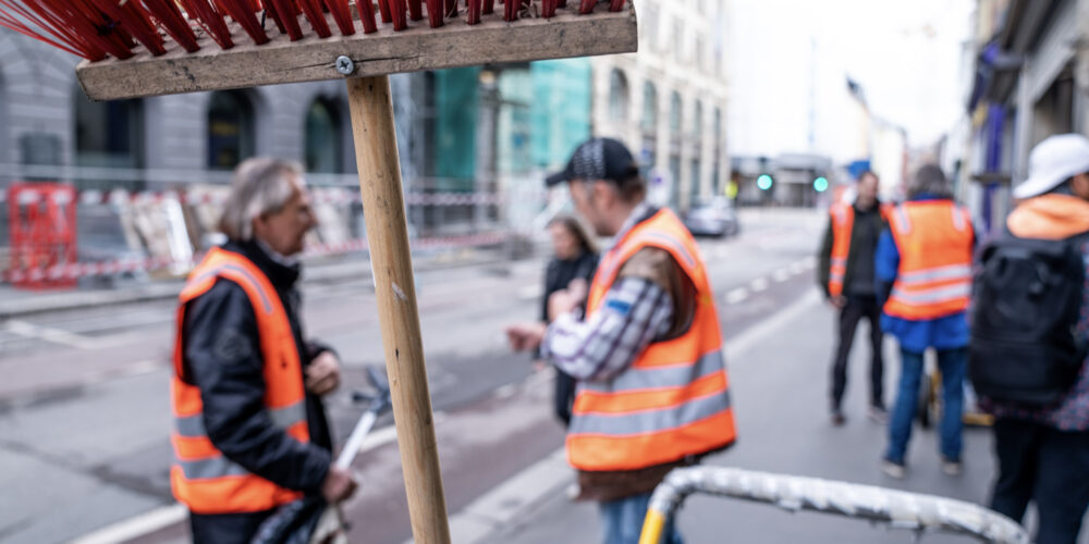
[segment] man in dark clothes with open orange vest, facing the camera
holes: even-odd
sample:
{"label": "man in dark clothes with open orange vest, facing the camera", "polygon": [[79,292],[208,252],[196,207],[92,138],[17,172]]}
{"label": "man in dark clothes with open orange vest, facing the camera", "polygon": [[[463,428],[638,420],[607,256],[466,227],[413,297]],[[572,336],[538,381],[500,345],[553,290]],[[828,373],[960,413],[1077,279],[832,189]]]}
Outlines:
{"label": "man in dark clothes with open orange vest, facing the camera", "polygon": [[878,239],[885,228],[884,213],[878,200],[879,180],[870,171],[858,176],[858,197],[854,205],[834,202],[829,209],[828,227],[818,259],[818,281],[829,304],[840,311],[839,341],[832,358],[832,424],[842,425],[843,394],[847,388],[847,359],[855,342],[855,331],[864,318],[870,325],[870,418],[879,423],[889,419],[884,407],[884,360],[881,344],[881,307],[876,293],[874,256]]}

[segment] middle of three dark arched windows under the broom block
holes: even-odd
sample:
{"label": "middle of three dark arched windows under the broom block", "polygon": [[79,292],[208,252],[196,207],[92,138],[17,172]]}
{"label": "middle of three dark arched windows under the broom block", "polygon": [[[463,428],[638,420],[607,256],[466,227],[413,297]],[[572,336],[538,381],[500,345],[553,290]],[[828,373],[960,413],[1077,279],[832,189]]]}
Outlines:
{"label": "middle of three dark arched windows under the broom block", "polygon": [[256,153],[254,104],[241,90],[213,92],[208,102],[208,168],[231,170]]}

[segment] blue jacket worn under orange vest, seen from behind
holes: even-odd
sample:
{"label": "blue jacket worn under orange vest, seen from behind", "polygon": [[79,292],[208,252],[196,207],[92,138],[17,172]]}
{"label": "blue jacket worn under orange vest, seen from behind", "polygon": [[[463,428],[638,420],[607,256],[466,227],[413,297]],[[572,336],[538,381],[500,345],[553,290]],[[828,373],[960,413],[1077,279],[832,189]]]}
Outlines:
{"label": "blue jacket worn under orange vest, seen from behind", "polygon": [[[914,201],[940,200],[934,195],[919,195],[913,198]],[[885,297],[892,290],[893,283],[900,272],[900,249],[893,238],[892,231],[888,227],[881,233],[878,240],[878,251],[874,257],[876,275],[878,282],[878,293]],[[901,349],[905,351],[921,354],[928,347],[937,349],[957,349],[968,346],[968,314],[967,312],[954,313],[944,318],[911,321],[903,318],[894,318],[886,313],[881,314],[881,327],[885,333],[891,334],[900,341]]]}

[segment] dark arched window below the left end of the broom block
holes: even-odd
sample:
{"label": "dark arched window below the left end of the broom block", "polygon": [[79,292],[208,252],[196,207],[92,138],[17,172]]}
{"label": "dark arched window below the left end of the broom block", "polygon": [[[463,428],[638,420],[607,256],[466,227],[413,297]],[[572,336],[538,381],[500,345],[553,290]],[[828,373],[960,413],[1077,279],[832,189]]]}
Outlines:
{"label": "dark arched window below the left end of the broom block", "polygon": [[144,112],[139,100],[93,102],[78,85],[74,87],[73,100],[77,165],[119,169],[144,165]]}

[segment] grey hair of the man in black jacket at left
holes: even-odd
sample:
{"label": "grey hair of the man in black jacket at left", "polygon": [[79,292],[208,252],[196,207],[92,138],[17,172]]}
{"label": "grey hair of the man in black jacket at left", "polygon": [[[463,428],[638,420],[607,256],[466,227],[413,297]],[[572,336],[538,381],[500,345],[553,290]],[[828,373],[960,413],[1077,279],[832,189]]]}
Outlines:
{"label": "grey hair of the man in black jacket at left", "polygon": [[266,157],[244,161],[234,170],[220,231],[233,240],[253,239],[254,220],[282,210],[303,183],[303,166],[297,162]]}

